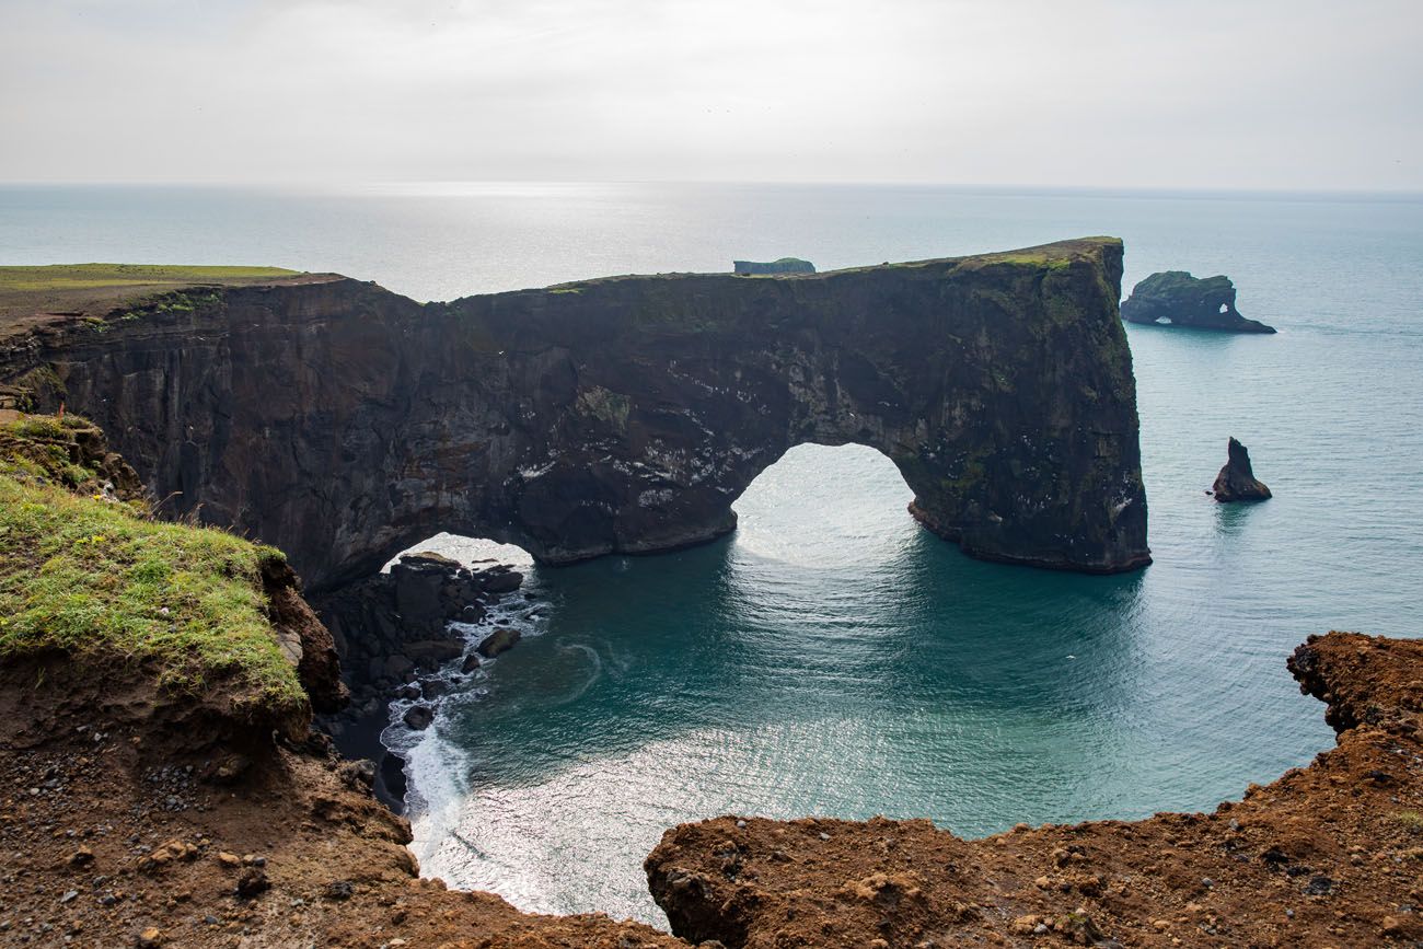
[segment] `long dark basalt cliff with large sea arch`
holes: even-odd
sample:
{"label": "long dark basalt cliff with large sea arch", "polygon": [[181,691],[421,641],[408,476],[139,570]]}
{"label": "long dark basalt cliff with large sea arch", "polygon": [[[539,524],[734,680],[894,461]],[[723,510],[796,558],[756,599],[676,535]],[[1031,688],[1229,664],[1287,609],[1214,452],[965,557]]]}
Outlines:
{"label": "long dark basalt cliff with large sea arch", "polygon": [[706,541],[801,442],[878,448],[970,555],[1111,572],[1150,562],[1120,279],[1110,238],[430,304],[306,277],[27,326],[0,383],[313,588],[443,529],[545,562]]}

